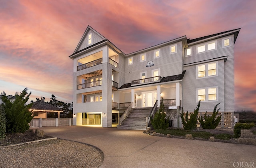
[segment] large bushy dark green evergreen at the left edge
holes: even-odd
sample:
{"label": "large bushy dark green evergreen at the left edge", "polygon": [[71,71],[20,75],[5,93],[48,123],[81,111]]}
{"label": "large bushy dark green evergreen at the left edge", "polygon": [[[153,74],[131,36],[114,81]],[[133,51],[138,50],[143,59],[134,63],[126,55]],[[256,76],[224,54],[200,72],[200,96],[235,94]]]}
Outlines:
{"label": "large bushy dark green evergreen at the left edge", "polygon": [[[8,100],[6,93],[2,93],[2,106],[6,113],[6,133],[25,132],[29,129],[28,123],[32,120],[29,108],[32,104],[25,105],[31,92],[28,94],[25,88],[20,95],[15,95],[14,102]],[[28,95],[27,95],[28,94]]]}

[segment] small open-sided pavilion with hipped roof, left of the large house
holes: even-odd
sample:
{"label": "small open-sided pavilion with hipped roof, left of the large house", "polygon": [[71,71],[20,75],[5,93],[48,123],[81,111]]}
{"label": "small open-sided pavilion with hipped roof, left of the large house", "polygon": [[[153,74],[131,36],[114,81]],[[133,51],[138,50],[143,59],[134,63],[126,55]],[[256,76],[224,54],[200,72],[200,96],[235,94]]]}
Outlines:
{"label": "small open-sided pavilion with hipped roof, left of the large house", "polygon": [[60,118],[60,112],[63,112],[62,109],[42,100],[34,102],[29,110],[33,113],[34,118],[47,118],[47,112],[58,112],[58,118]]}

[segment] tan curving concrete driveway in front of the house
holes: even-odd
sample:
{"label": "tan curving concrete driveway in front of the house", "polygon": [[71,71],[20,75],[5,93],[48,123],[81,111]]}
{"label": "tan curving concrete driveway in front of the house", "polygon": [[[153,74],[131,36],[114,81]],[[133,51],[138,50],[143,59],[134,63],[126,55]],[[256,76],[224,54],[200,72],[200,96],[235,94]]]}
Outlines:
{"label": "tan curving concrete driveway in front of the house", "polygon": [[256,146],[252,145],[157,137],[140,130],[117,128],[37,129],[49,136],[96,146],[104,153],[102,168],[233,168],[246,164],[256,167]]}

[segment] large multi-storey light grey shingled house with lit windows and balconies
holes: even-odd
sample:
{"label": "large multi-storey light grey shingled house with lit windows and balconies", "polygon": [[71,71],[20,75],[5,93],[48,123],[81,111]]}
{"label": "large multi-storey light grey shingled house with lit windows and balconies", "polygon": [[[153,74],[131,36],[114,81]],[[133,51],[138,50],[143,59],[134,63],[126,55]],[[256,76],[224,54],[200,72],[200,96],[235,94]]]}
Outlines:
{"label": "large multi-storey light grey shingled house with lit windows and balconies", "polygon": [[[120,125],[118,118],[129,105],[131,114],[144,109],[148,116],[161,98],[176,113],[182,108],[193,112],[201,100],[200,112],[211,112],[220,102],[220,111],[233,115],[234,44],[239,31],[192,40],[182,36],[124,54],[88,26],[69,56],[74,66],[74,125]],[[180,120],[175,123],[182,127]]]}

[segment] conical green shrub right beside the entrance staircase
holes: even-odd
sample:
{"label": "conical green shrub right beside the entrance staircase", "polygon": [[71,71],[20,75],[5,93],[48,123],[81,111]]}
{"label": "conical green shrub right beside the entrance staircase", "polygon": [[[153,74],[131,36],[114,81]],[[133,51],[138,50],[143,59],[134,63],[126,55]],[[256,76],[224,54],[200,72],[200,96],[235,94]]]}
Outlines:
{"label": "conical green shrub right beside the entrance staircase", "polygon": [[162,98],[159,110],[156,112],[153,119],[151,116],[152,126],[153,126],[154,130],[156,130],[156,129],[165,130],[166,128],[168,128],[168,126],[169,126],[168,121],[170,120],[170,118],[168,117],[167,120],[165,118],[166,118],[166,114],[164,113],[164,101]]}

